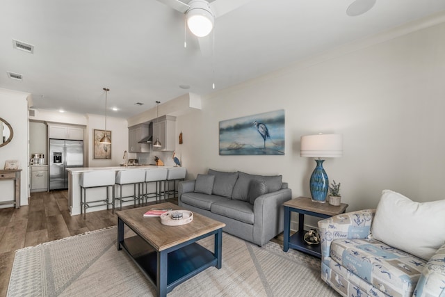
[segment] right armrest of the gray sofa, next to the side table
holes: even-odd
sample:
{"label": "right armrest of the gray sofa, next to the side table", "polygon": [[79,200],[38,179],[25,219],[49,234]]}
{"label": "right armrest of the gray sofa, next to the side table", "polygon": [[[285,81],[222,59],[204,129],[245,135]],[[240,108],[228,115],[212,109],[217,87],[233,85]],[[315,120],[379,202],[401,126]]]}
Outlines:
{"label": "right armrest of the gray sofa, next to the side table", "polygon": [[259,246],[263,246],[264,243],[283,231],[283,203],[291,200],[291,198],[291,189],[282,188],[281,190],[261,195],[255,199],[253,204],[253,237]]}

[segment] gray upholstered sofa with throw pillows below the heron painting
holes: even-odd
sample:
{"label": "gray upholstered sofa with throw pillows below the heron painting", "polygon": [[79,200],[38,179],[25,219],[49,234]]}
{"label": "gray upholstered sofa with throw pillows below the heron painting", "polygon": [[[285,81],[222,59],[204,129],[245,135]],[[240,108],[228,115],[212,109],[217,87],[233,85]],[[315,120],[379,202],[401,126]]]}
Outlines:
{"label": "gray upholstered sofa with throw pillows below the heron painting", "polygon": [[178,204],[226,224],[223,230],[263,246],[283,231],[284,208],[292,191],[282,176],[209,169],[179,183]]}

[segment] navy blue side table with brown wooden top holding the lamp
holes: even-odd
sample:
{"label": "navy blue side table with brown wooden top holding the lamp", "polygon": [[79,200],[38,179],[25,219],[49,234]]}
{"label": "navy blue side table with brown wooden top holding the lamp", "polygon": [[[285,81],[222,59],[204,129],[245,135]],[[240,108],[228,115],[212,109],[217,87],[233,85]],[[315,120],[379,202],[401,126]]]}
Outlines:
{"label": "navy blue side table with brown wooden top holding the lamp", "polygon": [[[333,206],[328,202],[313,202],[311,198],[298,197],[284,202],[284,252],[289,248],[306,252],[309,255],[321,258],[320,244],[310,245],[305,242],[305,214],[316,216],[318,218],[329,218],[343,214],[348,204],[341,203],[339,206]],[[291,236],[291,212],[298,213],[298,232]]]}

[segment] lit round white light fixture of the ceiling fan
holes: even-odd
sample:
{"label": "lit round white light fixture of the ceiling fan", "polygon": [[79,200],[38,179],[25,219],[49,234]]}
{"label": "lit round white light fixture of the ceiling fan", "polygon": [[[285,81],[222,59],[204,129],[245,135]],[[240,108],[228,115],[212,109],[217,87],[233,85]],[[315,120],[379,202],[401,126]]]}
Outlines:
{"label": "lit round white light fixture of the ceiling fan", "polygon": [[209,35],[213,29],[214,17],[207,1],[194,0],[187,10],[187,26],[197,37]]}

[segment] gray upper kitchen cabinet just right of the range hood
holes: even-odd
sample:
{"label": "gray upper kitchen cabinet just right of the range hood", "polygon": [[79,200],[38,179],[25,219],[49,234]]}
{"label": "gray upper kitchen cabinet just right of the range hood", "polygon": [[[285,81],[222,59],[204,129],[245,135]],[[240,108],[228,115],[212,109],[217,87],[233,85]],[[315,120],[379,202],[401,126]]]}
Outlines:
{"label": "gray upper kitchen cabinet just right of the range hood", "polygon": [[161,142],[161,147],[153,147],[154,151],[175,150],[176,117],[163,115],[153,120],[153,143],[156,139]]}

